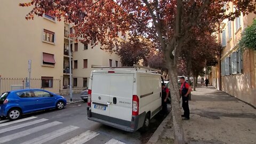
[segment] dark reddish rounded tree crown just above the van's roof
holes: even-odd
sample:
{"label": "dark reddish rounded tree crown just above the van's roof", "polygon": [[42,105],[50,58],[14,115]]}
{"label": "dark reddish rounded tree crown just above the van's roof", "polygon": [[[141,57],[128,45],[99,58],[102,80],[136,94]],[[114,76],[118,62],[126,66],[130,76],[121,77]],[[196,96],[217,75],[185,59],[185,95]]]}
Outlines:
{"label": "dark reddish rounded tree crown just above the van's roof", "polygon": [[138,65],[139,62],[147,63],[151,53],[150,43],[139,37],[131,37],[128,42],[122,42],[117,50],[123,66]]}

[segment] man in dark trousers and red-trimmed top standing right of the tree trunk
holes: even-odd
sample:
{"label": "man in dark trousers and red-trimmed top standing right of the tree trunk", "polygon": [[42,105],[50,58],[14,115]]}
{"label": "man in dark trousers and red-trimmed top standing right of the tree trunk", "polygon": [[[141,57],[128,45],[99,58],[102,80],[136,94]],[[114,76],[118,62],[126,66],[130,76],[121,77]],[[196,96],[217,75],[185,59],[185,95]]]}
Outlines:
{"label": "man in dark trousers and red-trimmed top standing right of the tree trunk", "polygon": [[180,82],[181,82],[181,87],[180,87],[180,94],[182,97],[182,108],[184,110],[184,114],[181,115],[183,120],[188,120],[189,119],[189,106],[188,106],[188,95],[192,91],[190,85],[185,82],[185,77],[180,77]]}

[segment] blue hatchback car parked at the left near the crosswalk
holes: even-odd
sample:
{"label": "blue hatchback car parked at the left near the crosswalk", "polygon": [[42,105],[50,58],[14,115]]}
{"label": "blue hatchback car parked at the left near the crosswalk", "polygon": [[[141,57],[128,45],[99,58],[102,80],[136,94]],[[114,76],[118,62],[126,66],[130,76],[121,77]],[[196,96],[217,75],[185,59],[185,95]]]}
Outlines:
{"label": "blue hatchback car parked at the left near the crosswalk", "polygon": [[23,114],[44,109],[62,109],[67,101],[64,97],[45,90],[26,89],[4,92],[0,96],[0,117],[10,120]]}

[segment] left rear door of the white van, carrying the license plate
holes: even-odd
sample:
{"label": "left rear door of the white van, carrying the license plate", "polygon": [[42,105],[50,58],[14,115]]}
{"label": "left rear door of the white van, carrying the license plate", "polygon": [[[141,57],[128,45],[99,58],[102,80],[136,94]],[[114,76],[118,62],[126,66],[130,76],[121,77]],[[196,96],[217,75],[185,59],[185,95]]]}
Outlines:
{"label": "left rear door of the white van, carrying the license plate", "polygon": [[91,111],[92,113],[109,116],[110,76],[93,73]]}

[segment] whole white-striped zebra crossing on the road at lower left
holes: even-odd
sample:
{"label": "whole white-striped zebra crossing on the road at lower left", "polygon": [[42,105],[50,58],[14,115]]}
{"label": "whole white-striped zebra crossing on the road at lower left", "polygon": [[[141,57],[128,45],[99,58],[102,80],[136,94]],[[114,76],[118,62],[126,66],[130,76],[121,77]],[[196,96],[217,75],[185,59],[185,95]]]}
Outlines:
{"label": "whole white-striped zebra crossing on the road at lower left", "polygon": [[[53,128],[55,128],[54,131],[49,132],[49,129]],[[6,119],[0,121],[0,143],[41,144],[49,143],[51,140],[61,137],[62,141],[59,142],[61,144],[82,144],[90,143],[90,140],[100,135],[100,133],[87,130],[75,135],[75,137],[71,139],[65,139],[65,134],[68,135],[78,129],[79,127],[77,126],[67,126],[58,121],[51,121],[50,119],[35,116],[18,119],[17,121],[9,121]],[[108,141],[99,143],[125,144],[124,142],[111,138],[109,138]]]}

